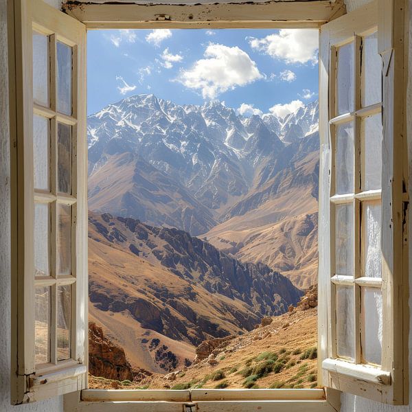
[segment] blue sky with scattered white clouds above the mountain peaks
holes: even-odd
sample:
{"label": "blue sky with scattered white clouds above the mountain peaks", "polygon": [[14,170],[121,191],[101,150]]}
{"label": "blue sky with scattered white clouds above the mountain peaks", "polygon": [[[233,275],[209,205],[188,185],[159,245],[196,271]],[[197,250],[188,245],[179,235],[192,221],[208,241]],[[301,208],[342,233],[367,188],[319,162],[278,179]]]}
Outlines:
{"label": "blue sky with scattered white clouds above the mountain peaks", "polygon": [[283,117],[318,98],[317,30],[91,30],[88,113],[130,95]]}

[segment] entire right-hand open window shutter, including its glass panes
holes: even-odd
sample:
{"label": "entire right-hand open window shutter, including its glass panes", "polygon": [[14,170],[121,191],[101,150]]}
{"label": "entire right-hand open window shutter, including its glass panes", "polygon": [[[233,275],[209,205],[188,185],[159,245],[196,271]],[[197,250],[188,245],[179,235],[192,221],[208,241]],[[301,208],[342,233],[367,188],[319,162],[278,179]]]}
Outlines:
{"label": "entire right-hand open window shutter, including its glass panes", "polygon": [[319,374],[389,404],[408,402],[403,3],[323,25],[319,49]]}

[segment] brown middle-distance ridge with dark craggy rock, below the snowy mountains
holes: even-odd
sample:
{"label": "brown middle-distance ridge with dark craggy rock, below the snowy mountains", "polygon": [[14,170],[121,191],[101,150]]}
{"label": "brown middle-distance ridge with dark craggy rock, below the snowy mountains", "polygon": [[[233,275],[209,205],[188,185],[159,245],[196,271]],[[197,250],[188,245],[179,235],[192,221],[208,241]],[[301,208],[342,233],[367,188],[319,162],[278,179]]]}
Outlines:
{"label": "brown middle-distance ridge with dark craggy rock, below the snowy mountains", "polygon": [[134,367],[188,364],[205,339],[251,330],[301,295],[265,264],[240,262],[185,231],[89,215],[89,317]]}

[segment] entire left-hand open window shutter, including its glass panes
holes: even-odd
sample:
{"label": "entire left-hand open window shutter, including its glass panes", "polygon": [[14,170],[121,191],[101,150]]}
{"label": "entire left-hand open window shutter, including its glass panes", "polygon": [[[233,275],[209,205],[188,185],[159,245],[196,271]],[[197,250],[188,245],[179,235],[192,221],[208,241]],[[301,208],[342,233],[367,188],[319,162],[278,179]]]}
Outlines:
{"label": "entire left-hand open window shutter, including its glass panes", "polygon": [[87,382],[86,29],[9,0],[12,403]]}

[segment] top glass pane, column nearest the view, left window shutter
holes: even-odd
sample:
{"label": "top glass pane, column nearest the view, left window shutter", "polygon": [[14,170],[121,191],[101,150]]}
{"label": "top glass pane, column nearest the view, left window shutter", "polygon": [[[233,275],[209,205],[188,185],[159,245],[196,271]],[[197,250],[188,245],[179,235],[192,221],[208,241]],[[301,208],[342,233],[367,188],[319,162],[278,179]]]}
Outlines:
{"label": "top glass pane, column nearest the view, left window shutter", "polygon": [[71,47],[57,42],[57,111],[71,115]]}

